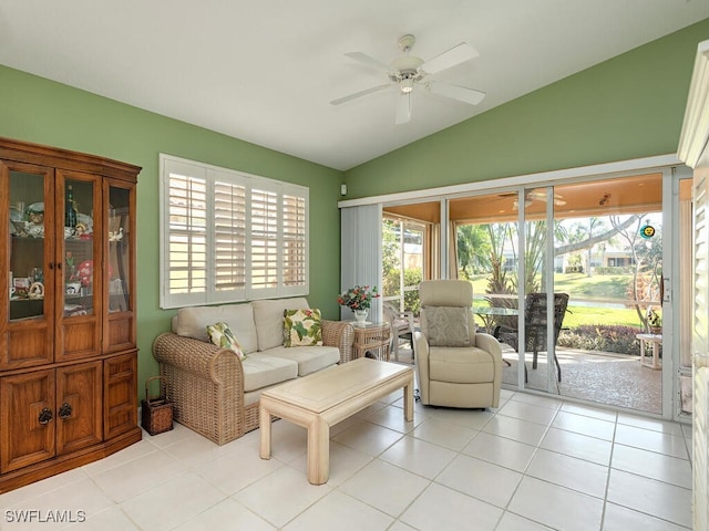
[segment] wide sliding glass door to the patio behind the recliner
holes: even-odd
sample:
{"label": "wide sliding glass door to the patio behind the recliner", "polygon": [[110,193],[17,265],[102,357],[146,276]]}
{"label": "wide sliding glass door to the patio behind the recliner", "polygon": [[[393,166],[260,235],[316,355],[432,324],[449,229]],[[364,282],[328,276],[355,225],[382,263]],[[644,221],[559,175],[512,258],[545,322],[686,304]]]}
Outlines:
{"label": "wide sliding glass door to the patio behind the recliner", "polygon": [[411,279],[441,278],[445,257],[445,277],[473,284],[479,331],[502,344],[504,385],[688,416],[692,199],[687,176],[674,174],[384,207],[397,262],[384,299],[418,310]]}

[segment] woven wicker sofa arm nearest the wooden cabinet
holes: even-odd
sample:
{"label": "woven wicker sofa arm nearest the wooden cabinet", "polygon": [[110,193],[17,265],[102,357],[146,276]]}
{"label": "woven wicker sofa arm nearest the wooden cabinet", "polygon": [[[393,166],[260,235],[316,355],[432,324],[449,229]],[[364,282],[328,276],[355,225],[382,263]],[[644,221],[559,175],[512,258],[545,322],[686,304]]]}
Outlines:
{"label": "woven wicker sofa arm nearest the wooden cabinet", "polygon": [[244,368],[235,352],[168,332],[153,342],[153,356],[175,420],[218,445],[258,427],[245,420]]}

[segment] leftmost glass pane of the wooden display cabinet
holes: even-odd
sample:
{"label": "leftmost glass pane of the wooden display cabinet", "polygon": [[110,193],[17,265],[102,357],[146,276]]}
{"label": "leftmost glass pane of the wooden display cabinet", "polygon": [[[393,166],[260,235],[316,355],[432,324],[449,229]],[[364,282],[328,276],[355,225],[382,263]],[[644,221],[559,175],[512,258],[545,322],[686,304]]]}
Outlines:
{"label": "leftmost glass pane of the wooden display cabinet", "polygon": [[44,179],[10,171],[10,321],[45,316]]}

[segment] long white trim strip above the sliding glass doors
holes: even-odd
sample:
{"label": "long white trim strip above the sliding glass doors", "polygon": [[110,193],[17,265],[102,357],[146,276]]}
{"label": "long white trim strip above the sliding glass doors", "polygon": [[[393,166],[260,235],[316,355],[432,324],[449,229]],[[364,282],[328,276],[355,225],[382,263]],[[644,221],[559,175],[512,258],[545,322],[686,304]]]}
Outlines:
{"label": "long white trim strip above the sliding glass doors", "polygon": [[490,188],[503,188],[511,186],[526,185],[535,183],[538,186],[551,185],[556,181],[566,181],[573,178],[594,177],[608,174],[621,174],[625,171],[647,171],[661,169],[668,166],[682,164],[676,154],[658,155],[654,157],[633,158],[629,160],[618,160],[615,163],[597,164],[593,166],[579,166],[576,168],[555,169],[552,171],[541,171],[536,174],[518,175],[515,177],[504,177],[500,179],[487,179],[475,183],[464,183],[461,185],[441,186],[436,188],[424,188],[397,194],[384,194],[383,196],[360,197],[358,199],[346,199],[338,201],[338,207],[359,207],[362,205],[393,205],[398,202],[415,202],[417,200],[431,200],[436,197],[448,197],[458,194],[469,194],[471,191],[487,190]]}

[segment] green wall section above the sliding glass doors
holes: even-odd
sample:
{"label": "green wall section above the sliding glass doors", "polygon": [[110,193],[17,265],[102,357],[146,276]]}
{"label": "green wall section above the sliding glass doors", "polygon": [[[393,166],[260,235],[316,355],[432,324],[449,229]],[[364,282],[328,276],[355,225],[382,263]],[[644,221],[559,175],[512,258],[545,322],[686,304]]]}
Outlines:
{"label": "green wall section above the sliding glass doors", "polygon": [[675,153],[707,39],[709,19],[362,164],[347,198]]}

